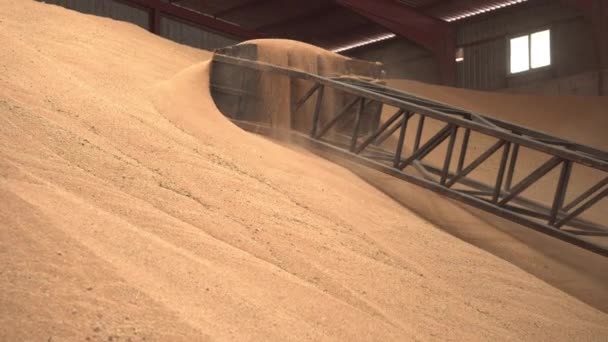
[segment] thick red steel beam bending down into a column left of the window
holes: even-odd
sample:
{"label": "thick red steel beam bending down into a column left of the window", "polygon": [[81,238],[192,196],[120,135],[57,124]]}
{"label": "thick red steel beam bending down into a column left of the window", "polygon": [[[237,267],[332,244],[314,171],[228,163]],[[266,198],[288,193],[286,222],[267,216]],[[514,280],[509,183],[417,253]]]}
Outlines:
{"label": "thick red steel beam bending down into a column left of the window", "polygon": [[389,31],[432,51],[444,84],[456,82],[456,35],[452,26],[391,0],[336,0]]}

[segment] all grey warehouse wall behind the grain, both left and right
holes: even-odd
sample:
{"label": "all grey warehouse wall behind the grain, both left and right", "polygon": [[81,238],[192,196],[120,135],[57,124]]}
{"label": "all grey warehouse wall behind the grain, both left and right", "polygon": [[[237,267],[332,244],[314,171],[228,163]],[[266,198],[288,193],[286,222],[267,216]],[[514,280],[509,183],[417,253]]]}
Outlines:
{"label": "all grey warehouse wall behind the grain, both left and right", "polygon": [[[598,4],[603,0],[595,0]],[[76,11],[149,27],[148,11],[117,0],[45,0]],[[602,6],[603,10],[608,6]],[[606,13],[608,16],[608,13]],[[601,17],[601,16],[600,16]],[[608,23],[601,23],[608,34]],[[456,64],[456,85],[461,88],[546,95],[608,94],[608,48],[598,51],[597,33],[582,11],[555,0],[530,0],[516,7],[459,21],[456,44],[464,60]],[[551,30],[550,67],[510,74],[509,39],[537,30]],[[170,17],[163,17],[160,35],[197,48],[213,50],[238,40]],[[608,46],[608,39],[604,45]],[[389,78],[440,83],[433,54],[403,38],[348,51],[359,59],[379,61]]]}

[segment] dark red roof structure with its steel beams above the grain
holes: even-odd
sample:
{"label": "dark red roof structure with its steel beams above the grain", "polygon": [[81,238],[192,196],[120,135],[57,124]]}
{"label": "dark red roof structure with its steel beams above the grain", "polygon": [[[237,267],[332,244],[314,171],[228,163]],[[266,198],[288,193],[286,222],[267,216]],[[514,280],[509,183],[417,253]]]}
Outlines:
{"label": "dark red roof structure with its steel beams above the grain", "polygon": [[[454,22],[528,0],[118,0],[149,11],[150,30],[161,17],[183,20],[240,40],[285,38],[342,52],[394,37],[436,58],[441,83],[456,78]],[[593,17],[592,0],[556,0]],[[532,0],[530,0],[532,2]],[[594,19],[595,20],[595,19]],[[601,23],[600,19],[594,22]],[[597,30],[597,32],[603,32]],[[598,41],[601,34],[598,33]]]}

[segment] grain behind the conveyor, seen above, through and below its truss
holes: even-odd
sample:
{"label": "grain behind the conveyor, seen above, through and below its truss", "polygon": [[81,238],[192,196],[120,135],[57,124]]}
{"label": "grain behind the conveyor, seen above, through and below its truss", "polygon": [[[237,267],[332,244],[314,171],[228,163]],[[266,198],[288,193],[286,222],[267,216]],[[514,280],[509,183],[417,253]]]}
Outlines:
{"label": "grain behind the conveyor, seen above, through and below its truss", "polygon": [[[487,116],[518,123],[557,137],[608,149],[608,98],[595,96],[531,96],[509,95],[472,91],[430,85],[411,80],[388,80],[388,85],[436,101],[452,104]],[[386,110],[387,118],[393,110]],[[413,144],[418,117],[410,120],[406,150]],[[443,127],[436,120],[425,124],[424,139],[428,139]],[[459,132],[459,138],[463,135]],[[396,140],[396,139],[395,139]],[[424,141],[424,140],[423,140]],[[457,140],[460,142],[460,140]],[[467,162],[485,151],[495,140],[479,134],[472,135]],[[394,144],[395,141],[388,141]],[[446,144],[431,153],[425,161],[443,165]],[[459,152],[459,143],[455,153]],[[409,153],[407,151],[406,153]],[[549,157],[520,149],[514,184],[527,176]],[[488,184],[495,181],[500,153],[482,164],[472,176]],[[399,203],[427,218],[445,231],[472,243],[494,255],[508,260],[525,271],[548,282],[580,300],[608,312],[608,259],[569,245],[547,235],[531,231],[521,225],[500,219],[457,202],[445,201],[439,195],[429,194],[416,186],[356,165],[349,168],[357,175],[382,190]],[[559,169],[543,177],[538,184],[523,194],[550,206],[555,194],[555,180]],[[577,165],[566,196],[567,201],[586,191],[603,178],[600,172]],[[421,197],[427,200],[420,201]],[[441,206],[435,203],[442,203]],[[462,210],[464,209],[464,210]],[[582,217],[592,222],[606,224],[608,201],[601,201],[585,212]],[[572,229],[572,228],[567,228]],[[608,236],[580,235],[596,244],[608,246]]]}

